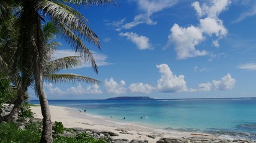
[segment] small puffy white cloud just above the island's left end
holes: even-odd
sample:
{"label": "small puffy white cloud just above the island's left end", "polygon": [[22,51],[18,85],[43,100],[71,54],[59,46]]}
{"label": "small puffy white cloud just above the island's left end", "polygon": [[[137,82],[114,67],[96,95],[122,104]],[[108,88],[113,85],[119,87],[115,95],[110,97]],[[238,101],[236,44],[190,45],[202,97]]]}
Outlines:
{"label": "small puffy white cloud just above the island's left end", "polygon": [[105,90],[109,94],[125,94],[127,89],[125,88],[125,81],[121,80],[120,83],[116,82],[113,77],[104,82]]}

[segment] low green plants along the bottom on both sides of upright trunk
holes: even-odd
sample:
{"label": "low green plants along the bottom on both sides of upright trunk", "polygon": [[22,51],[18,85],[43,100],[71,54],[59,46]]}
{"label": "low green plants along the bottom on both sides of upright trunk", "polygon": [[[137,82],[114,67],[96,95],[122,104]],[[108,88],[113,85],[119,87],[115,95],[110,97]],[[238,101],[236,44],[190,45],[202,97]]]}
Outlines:
{"label": "low green plants along the bottom on both sides of upright trunk", "polygon": [[[59,122],[61,123],[61,122]],[[19,123],[4,122],[0,123],[0,142],[2,143],[27,143],[40,142],[41,123],[28,123],[25,129],[19,129]],[[54,143],[107,143],[111,142],[108,138],[97,139],[86,132],[82,132],[73,137],[56,135],[53,136]]]}

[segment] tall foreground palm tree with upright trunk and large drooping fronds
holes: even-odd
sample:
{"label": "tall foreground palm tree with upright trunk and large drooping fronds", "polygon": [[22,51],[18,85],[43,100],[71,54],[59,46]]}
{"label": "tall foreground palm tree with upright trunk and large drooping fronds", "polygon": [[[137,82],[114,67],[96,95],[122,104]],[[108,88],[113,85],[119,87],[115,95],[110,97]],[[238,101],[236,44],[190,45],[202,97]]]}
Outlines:
{"label": "tall foreground palm tree with upright trunk and large drooping fronds", "polygon": [[[52,121],[46,94],[43,89],[43,73],[48,57],[45,46],[46,39],[41,29],[41,22],[45,21],[46,18],[53,21],[64,34],[62,37],[70,43],[71,48],[79,53],[85,62],[91,63],[92,69],[97,73],[98,68],[95,59],[82,39],[96,45],[98,48],[100,48],[100,40],[87,26],[88,20],[68,5],[75,5],[76,7],[81,5],[103,5],[112,2],[112,0],[21,0],[19,2],[20,9],[16,14],[16,25],[19,27],[19,32],[17,33],[17,52],[26,51],[26,53],[22,54],[22,57],[17,57],[20,60],[14,61],[17,67],[17,62],[22,61],[22,64],[19,64],[21,65],[19,69],[22,70],[14,71],[21,71],[17,74],[28,74],[29,71],[32,71],[35,81],[35,92],[40,99],[43,114],[41,142],[52,142]],[[28,63],[32,64],[28,67]],[[28,67],[28,69],[25,67]],[[24,80],[26,81],[28,78],[26,77]],[[21,85],[26,86],[25,83]]]}

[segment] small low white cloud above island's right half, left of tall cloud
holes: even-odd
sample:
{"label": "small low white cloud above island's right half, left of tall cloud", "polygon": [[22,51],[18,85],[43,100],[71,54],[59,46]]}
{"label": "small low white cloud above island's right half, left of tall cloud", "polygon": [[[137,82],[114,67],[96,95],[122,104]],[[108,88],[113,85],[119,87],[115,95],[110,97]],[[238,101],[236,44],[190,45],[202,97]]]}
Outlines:
{"label": "small low white cloud above island's right half, left of tall cloud", "polygon": [[152,92],[153,86],[149,84],[143,84],[143,83],[132,83],[128,87],[129,91],[132,93],[138,93],[138,94],[150,94]]}

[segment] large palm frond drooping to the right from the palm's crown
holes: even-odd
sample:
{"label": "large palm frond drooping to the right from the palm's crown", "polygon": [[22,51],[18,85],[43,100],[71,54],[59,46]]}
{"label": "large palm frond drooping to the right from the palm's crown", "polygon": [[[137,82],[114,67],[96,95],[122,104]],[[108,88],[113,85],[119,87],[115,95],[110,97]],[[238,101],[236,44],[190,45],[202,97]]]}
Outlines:
{"label": "large palm frond drooping to the right from the palm's crown", "polygon": [[82,37],[100,48],[98,36],[85,24],[87,20],[83,17],[80,19],[81,14],[79,14],[79,12],[71,10],[72,8],[58,2],[42,1],[40,5],[38,5],[38,8],[46,11],[46,13],[52,17],[55,25],[64,33],[62,36],[64,36],[66,41],[85,59],[85,62],[89,61],[92,65],[92,69],[98,73],[98,67],[91,51],[89,51],[82,39],[80,39],[80,37]]}

